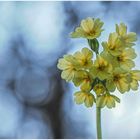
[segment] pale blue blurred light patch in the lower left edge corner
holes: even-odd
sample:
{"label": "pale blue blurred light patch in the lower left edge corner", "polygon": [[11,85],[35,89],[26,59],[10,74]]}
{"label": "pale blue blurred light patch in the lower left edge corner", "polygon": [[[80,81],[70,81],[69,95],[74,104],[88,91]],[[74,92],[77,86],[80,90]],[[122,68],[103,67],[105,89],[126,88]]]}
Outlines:
{"label": "pale blue blurred light patch in the lower left edge corner", "polygon": [[0,88],[0,137],[14,138],[23,116],[23,106],[13,93]]}

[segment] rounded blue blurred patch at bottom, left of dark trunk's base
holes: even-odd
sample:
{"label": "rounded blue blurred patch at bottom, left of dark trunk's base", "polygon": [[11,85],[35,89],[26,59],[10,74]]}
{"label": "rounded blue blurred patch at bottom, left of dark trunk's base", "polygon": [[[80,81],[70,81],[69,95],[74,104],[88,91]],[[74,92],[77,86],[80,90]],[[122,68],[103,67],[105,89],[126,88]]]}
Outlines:
{"label": "rounded blue blurred patch at bottom, left of dark trunk's base", "polygon": [[29,108],[16,131],[18,139],[50,139],[53,138],[50,120],[43,118],[41,111]]}

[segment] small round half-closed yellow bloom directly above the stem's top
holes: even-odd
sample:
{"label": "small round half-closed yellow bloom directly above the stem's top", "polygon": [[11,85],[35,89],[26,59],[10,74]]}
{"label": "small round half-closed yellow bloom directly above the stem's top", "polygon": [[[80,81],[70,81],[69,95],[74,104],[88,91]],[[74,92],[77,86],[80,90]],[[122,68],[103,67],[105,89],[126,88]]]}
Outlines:
{"label": "small round half-closed yellow bloom directly above the stem's top", "polygon": [[106,91],[104,85],[101,84],[101,83],[96,84],[96,85],[94,86],[93,90],[95,91],[95,93],[96,93],[97,95],[104,94],[105,91]]}

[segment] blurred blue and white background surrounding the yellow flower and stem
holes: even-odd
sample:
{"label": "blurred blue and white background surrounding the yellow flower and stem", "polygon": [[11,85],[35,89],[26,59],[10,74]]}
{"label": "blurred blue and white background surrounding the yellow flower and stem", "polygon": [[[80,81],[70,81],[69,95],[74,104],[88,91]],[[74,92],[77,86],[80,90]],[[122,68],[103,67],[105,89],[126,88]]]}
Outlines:
{"label": "blurred blue and white background surrounding the yellow flower and stem", "polygon": [[[57,61],[87,47],[70,39],[81,19],[105,22],[100,41],[124,22],[138,34],[140,2],[0,2],[0,138],[96,138],[95,107],[75,105],[73,84],[61,79]],[[103,138],[140,138],[140,88],[103,109]]]}

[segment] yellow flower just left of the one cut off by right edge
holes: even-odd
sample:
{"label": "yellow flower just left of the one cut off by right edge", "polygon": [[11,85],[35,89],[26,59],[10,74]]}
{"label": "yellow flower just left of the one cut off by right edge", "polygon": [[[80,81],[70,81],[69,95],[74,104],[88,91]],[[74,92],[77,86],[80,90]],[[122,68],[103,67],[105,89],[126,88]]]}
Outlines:
{"label": "yellow flower just left of the one cut off by right edge", "polygon": [[116,87],[121,92],[124,93],[129,91],[130,77],[128,73],[120,68],[116,68],[112,74],[106,80],[106,87],[110,92],[115,91]]}

